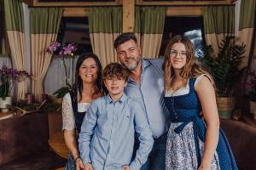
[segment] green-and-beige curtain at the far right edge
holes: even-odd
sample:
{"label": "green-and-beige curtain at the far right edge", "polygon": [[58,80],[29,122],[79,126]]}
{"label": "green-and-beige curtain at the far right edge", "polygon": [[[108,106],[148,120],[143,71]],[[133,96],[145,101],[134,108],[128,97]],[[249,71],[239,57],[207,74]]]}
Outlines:
{"label": "green-and-beige curtain at the far right edge", "polygon": [[255,15],[256,0],[241,0],[238,40],[240,43],[243,42],[246,44],[246,52],[244,54],[245,58],[242,59],[241,68],[245,66],[256,67],[255,65],[248,65],[249,60],[253,60],[253,48],[256,46],[256,43],[254,43],[254,47],[252,47],[253,41],[256,39],[256,32],[254,32],[256,19]]}

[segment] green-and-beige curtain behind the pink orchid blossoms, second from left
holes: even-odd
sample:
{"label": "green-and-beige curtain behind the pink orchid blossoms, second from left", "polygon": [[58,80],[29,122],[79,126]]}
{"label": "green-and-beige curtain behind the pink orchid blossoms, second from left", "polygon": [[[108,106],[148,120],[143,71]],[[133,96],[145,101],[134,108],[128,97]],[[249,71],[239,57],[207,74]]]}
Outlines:
{"label": "green-and-beige curtain behind the pink orchid blossoms, second from left", "polygon": [[46,52],[50,42],[56,41],[61,23],[62,8],[31,9],[32,93],[36,100],[44,94],[43,81],[49,68],[51,54]]}

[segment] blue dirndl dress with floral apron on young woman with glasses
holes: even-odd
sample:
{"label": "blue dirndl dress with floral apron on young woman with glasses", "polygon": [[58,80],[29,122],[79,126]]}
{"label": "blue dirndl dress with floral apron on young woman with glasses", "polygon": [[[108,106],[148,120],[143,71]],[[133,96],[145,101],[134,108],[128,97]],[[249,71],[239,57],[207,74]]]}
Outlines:
{"label": "blue dirndl dress with floral apron on young woman with glasses", "polygon": [[[166,170],[196,170],[201,164],[206,127],[200,118],[201,104],[195,92],[195,80],[189,79],[189,94],[164,97],[172,121],[167,135]],[[221,130],[211,169],[237,169]]]}

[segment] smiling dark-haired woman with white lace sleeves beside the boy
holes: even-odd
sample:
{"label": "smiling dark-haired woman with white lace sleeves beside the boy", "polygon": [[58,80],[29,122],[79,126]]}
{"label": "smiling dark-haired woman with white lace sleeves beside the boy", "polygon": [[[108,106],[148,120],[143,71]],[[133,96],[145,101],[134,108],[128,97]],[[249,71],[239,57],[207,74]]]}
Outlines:
{"label": "smiling dark-haired woman with white lace sleeves beside the boy", "polygon": [[64,139],[70,151],[65,169],[82,169],[77,137],[85,112],[92,100],[103,95],[102,65],[96,54],[80,55],[75,71],[73,90],[62,101]]}

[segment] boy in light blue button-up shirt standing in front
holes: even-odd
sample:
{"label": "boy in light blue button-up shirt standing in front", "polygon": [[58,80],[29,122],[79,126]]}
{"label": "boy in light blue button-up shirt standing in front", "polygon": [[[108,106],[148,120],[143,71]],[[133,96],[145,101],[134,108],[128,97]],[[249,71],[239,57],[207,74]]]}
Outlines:
{"label": "boy in light blue button-up shirt standing in front", "polygon": [[[103,71],[108,95],[90,105],[79,133],[86,170],[140,169],[147,161],[154,139],[142,106],[124,93],[128,76],[119,63],[109,64]],[[131,161],[135,132],[140,135],[140,146]]]}

